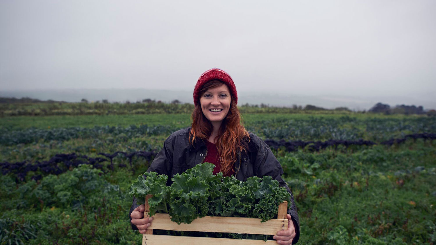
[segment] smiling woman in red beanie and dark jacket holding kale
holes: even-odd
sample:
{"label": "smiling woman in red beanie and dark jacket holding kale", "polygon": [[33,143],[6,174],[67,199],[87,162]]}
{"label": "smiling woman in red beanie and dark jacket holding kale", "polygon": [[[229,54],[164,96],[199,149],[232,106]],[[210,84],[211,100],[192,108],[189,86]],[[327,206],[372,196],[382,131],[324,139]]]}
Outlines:
{"label": "smiling woman in red beanie and dark jacket holding kale", "polygon": [[[232,77],[216,68],[204,72],[194,88],[191,127],[171,134],[147,171],[171,178],[196,164],[211,162],[216,165],[214,174],[221,171],[240,181],[252,176],[272,176],[290,192],[292,202],[287,214],[288,229],[277,232],[273,238],[278,244],[295,244],[300,237],[300,224],[293,195],[281,178],[283,169],[268,145],[240,124],[237,103]],[[143,212],[144,205],[136,205],[134,198],[129,217],[133,230],[139,229],[141,234],[153,220],[143,218]]]}

